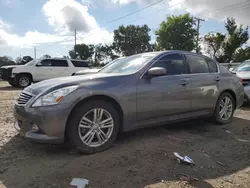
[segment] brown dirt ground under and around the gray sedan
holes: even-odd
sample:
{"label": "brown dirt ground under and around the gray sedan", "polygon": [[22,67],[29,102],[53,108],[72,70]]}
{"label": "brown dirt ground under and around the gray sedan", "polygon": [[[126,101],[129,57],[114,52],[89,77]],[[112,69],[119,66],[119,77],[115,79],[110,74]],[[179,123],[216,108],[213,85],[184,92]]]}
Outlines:
{"label": "brown dirt ground under and around the gray sedan", "polygon": [[[0,86],[0,188],[68,188],[86,178],[91,188],[250,188],[250,106],[232,124],[196,120],[119,135],[114,146],[81,155],[65,145],[40,145],[13,128],[20,92]],[[191,157],[179,164],[173,152]]]}

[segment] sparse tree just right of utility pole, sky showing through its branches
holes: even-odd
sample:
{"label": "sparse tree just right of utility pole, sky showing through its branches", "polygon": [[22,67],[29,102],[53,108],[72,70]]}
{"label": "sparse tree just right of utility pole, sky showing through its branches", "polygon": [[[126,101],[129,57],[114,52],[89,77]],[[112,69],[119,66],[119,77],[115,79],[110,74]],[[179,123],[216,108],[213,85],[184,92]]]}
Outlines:
{"label": "sparse tree just right of utility pole, sky showing through its branches", "polygon": [[222,46],[226,36],[217,33],[208,33],[204,36],[204,43],[206,45],[206,52],[214,59],[218,59],[222,54]]}

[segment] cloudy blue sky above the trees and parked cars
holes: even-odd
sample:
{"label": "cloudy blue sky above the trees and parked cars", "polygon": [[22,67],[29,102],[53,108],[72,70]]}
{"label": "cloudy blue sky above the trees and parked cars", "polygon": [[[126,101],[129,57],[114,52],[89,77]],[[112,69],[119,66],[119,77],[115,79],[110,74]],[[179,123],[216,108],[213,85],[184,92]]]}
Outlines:
{"label": "cloudy blue sky above the trees and parked cars", "polygon": [[154,42],[155,29],[168,15],[187,12],[205,20],[201,35],[225,32],[227,17],[250,25],[249,9],[249,0],[0,0],[0,56],[34,58],[35,47],[37,58],[62,57],[74,46],[75,29],[77,44],[110,44],[114,29],[129,24],[147,24]]}

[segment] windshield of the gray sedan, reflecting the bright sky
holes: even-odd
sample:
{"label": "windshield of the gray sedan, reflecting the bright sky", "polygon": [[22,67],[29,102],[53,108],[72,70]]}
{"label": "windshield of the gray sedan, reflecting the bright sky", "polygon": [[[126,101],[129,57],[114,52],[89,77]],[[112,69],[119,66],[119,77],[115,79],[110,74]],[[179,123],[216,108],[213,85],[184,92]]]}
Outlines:
{"label": "windshield of the gray sedan, reflecting the bright sky", "polygon": [[101,73],[121,73],[121,74],[131,74],[140,70],[148,60],[152,59],[154,56],[150,55],[133,55],[123,59],[119,59],[115,62],[108,64],[106,67],[101,69]]}

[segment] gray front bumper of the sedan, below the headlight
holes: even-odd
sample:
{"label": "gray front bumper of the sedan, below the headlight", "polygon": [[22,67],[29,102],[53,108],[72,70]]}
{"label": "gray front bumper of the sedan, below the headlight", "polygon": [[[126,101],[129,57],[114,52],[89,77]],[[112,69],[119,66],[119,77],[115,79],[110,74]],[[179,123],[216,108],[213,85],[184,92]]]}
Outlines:
{"label": "gray front bumper of the sedan, below the headlight", "polygon": [[[25,138],[40,143],[63,143],[65,127],[70,113],[66,104],[27,108],[15,105],[14,117],[17,120],[15,128]],[[33,131],[32,126],[39,127]]]}

